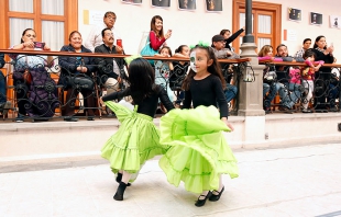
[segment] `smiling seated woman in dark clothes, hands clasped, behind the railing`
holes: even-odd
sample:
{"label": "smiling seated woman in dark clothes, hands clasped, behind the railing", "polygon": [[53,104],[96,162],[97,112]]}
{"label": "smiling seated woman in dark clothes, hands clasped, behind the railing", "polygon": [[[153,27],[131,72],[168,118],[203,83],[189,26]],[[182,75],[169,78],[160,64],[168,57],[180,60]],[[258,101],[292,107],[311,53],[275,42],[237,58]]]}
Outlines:
{"label": "smiling seated woman in dark clothes, hands clasped, behind the railing", "polygon": [[[59,56],[62,71],[58,83],[63,84],[64,89],[67,91],[64,107],[64,116],[67,117],[65,117],[64,121],[78,121],[78,118],[73,116],[75,115],[75,102],[79,92],[81,92],[84,101],[87,103],[87,107],[89,107],[86,110],[88,113],[87,119],[95,121],[94,81],[91,78],[91,72],[95,71],[95,67],[92,65],[94,60],[91,57],[81,57],[81,53],[91,53],[91,50],[81,45],[81,34],[78,31],[72,32],[68,41],[69,45],[64,45],[61,52],[77,53],[79,56]],[[82,81],[76,80],[77,78],[85,80],[89,87],[84,85]]]}

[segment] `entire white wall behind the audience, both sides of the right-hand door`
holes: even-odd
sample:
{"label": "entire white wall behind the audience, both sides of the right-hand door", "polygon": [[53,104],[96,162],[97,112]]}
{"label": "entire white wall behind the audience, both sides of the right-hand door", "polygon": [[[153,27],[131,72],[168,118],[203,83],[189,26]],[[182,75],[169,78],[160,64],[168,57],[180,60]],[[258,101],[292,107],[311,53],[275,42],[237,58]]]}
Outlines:
{"label": "entire white wall behind the audience, both sides of the right-hand door", "polygon": [[[340,15],[340,0],[314,0],[308,3],[306,0],[262,0],[282,4],[282,38],[283,30],[296,30],[297,41],[283,41],[288,46],[289,54],[294,55],[301,46],[306,37],[312,41],[318,35],[324,35],[327,42],[333,42],[334,56],[341,61],[341,42],[338,39],[341,30],[330,28],[329,15]],[[232,0],[223,0],[223,12],[208,13],[205,8],[205,0],[197,0],[196,11],[180,11],[176,0],[172,0],[169,9],[160,9],[151,7],[151,0],[143,0],[141,5],[125,4],[120,0],[78,0],[79,31],[84,39],[91,30],[90,25],[82,23],[82,11],[113,11],[118,20],[116,26],[123,38],[123,46],[127,54],[136,54],[143,32],[150,31],[150,22],[153,15],[161,15],[164,19],[164,30],[172,28],[173,35],[167,41],[173,52],[182,44],[195,45],[199,41],[210,43],[211,37],[218,34],[222,28],[231,30],[232,26]],[[288,20],[287,9],[298,8],[302,10],[301,22]],[[310,12],[323,14],[323,24],[320,26],[309,24]],[[340,48],[339,48],[340,47]]]}

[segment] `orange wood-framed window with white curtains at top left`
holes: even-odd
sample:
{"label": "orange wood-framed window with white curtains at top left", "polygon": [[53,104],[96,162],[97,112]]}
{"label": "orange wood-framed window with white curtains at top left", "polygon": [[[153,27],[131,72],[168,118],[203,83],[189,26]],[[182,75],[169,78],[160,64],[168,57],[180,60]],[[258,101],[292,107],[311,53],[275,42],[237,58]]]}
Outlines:
{"label": "orange wood-framed window with white curtains at top left", "polygon": [[34,28],[38,42],[59,50],[68,34],[78,30],[77,0],[0,0],[0,31],[8,33],[0,41],[2,48],[20,44],[22,32]]}

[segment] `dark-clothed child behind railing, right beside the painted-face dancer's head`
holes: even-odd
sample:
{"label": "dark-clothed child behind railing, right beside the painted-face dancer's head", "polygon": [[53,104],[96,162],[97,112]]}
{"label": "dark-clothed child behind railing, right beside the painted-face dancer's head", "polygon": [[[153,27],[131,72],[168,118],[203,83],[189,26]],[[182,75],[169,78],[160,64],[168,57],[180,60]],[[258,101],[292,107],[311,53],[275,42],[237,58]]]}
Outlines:
{"label": "dark-clothed child behind railing, right beside the painted-face dancer's head", "polygon": [[[189,47],[187,45],[180,45],[175,49],[174,57],[188,58]],[[179,107],[184,100],[184,91],[182,90],[183,81],[188,71],[189,61],[173,61],[173,72],[169,76],[169,87],[170,90],[176,91],[175,106]]]}

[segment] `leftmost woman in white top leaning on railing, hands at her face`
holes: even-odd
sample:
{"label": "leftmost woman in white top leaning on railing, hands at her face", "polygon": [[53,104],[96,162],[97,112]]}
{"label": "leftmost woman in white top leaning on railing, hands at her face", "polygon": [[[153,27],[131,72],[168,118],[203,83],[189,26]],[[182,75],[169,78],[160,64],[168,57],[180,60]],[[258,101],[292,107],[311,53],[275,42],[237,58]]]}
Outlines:
{"label": "leftmost woman in white top leaning on railing, hands at her face", "polygon": [[[22,33],[21,44],[14,45],[12,49],[19,50],[50,50],[50,47],[45,43],[36,42],[36,33],[33,28],[26,28]],[[41,79],[44,72],[44,79],[46,80],[48,75],[45,70],[46,66],[53,65],[53,56],[29,56],[29,55],[9,55],[14,60],[14,70],[13,70],[13,82],[15,85],[15,93],[18,100],[19,114],[15,118],[16,122],[23,122],[25,115],[29,113],[30,116],[40,116],[42,114],[35,114],[38,107],[38,103],[33,103],[28,99],[28,92],[31,89],[31,80]],[[31,76],[28,76],[29,72]],[[37,72],[37,73],[35,73]],[[46,72],[46,73],[45,73]],[[48,77],[50,78],[50,77]],[[51,78],[50,78],[51,79]],[[35,92],[37,93],[37,92]],[[41,101],[42,102],[42,101]],[[48,114],[54,113],[54,111],[45,111]],[[44,114],[43,114],[44,115]],[[52,114],[53,115],[53,114]]]}

